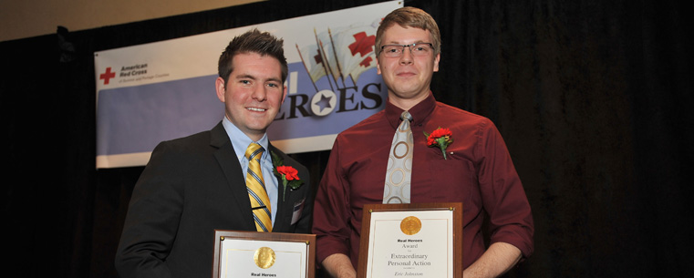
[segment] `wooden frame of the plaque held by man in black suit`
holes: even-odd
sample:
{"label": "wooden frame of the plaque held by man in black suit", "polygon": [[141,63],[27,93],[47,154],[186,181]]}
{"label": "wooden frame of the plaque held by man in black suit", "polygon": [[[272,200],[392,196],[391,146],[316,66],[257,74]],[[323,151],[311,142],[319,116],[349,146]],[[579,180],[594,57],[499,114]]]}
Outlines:
{"label": "wooden frame of the plaque held by man in black suit", "polygon": [[214,254],[212,260],[212,278],[221,278],[222,267],[222,242],[225,238],[245,241],[268,242],[305,242],[307,250],[306,278],[314,278],[316,275],[316,235],[306,233],[287,232],[243,232],[214,230]]}

